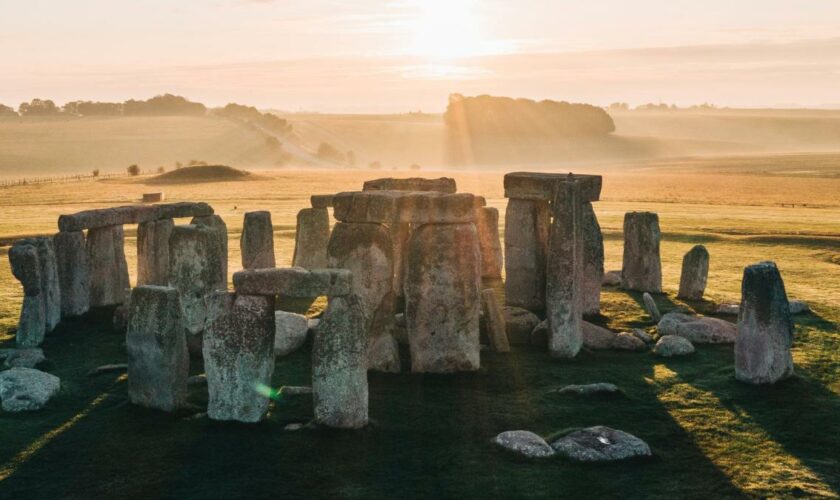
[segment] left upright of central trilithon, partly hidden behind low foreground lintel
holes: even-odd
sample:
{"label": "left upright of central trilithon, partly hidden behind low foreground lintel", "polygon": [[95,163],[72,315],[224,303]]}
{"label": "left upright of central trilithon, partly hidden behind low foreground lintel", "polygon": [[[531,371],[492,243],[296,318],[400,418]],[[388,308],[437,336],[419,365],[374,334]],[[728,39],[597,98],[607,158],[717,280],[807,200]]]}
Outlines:
{"label": "left upright of central trilithon, partly hidden behind low foreground lintel", "polygon": [[394,322],[394,255],[388,229],[382,224],[339,222],[327,249],[330,268],[353,273],[367,339],[368,369],[399,372]]}

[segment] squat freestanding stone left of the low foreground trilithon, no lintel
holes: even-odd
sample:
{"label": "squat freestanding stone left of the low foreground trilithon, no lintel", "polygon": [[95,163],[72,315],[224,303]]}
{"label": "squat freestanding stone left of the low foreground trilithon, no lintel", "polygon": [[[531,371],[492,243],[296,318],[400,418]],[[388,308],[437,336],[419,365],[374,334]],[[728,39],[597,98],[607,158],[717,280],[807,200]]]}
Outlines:
{"label": "squat freestanding stone left of the low foreground trilithon, no lintel", "polygon": [[184,406],[190,357],[178,290],[139,286],[132,290],[128,307],[129,399],[163,411]]}

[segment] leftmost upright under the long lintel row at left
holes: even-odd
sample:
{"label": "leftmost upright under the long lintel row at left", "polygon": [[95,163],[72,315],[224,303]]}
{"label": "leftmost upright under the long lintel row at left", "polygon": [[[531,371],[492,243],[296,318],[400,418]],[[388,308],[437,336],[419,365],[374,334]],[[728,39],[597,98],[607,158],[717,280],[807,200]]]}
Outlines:
{"label": "leftmost upright under the long lintel row at left", "polygon": [[61,293],[61,316],[81,316],[90,309],[90,270],[81,231],[53,236]]}

